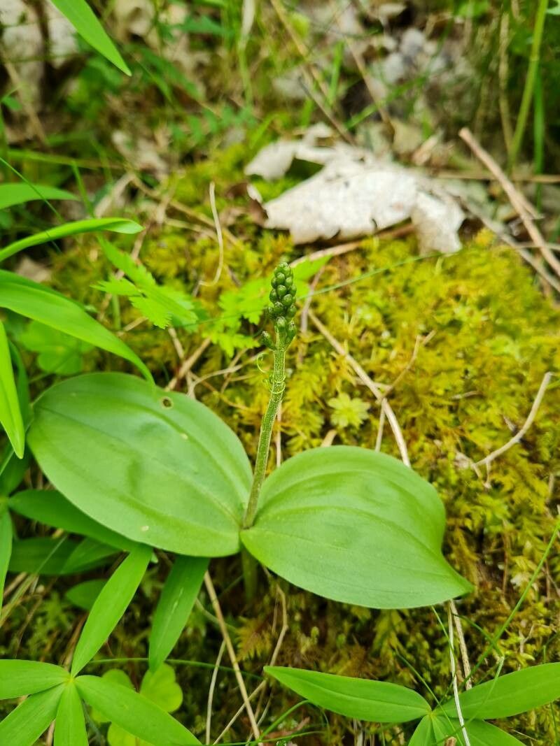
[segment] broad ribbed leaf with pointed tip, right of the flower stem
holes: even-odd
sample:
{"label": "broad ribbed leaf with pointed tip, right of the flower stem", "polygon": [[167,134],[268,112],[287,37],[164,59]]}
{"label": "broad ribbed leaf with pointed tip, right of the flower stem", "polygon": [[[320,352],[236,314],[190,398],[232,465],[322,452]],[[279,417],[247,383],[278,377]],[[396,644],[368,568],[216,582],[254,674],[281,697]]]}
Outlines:
{"label": "broad ribbed leaf with pointed tip, right of the flower stem", "polygon": [[428,606],[470,583],[441,554],[444,506],[400,461],[350,446],[287,460],[265,480],[241,533],[258,560],[300,588],[376,609]]}

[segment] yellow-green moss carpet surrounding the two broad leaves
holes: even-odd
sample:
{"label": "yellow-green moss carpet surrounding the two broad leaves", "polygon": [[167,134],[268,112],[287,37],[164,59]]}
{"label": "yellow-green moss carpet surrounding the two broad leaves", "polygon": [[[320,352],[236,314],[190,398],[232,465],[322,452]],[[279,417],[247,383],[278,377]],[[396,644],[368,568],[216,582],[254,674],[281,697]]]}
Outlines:
{"label": "yellow-green moss carpet surrounding the two broad leaves", "polygon": [[[208,194],[211,179],[219,195],[240,181],[240,157],[240,151],[229,151],[218,168],[216,163],[214,169],[211,163],[191,167],[178,178],[175,198],[211,216],[208,199],[205,207],[199,207],[202,195]],[[242,199],[219,198],[219,208],[226,204],[243,210]],[[249,280],[266,276],[281,258],[294,260],[306,251],[294,248],[287,236],[256,228],[243,214],[237,216],[231,231],[240,238],[234,241],[225,236],[223,269],[215,282],[220,261],[217,242],[196,230],[165,225],[152,228],[140,258],[161,283],[195,292],[211,319],[220,311],[218,303],[224,292],[234,292]],[[130,248],[126,239],[120,248]],[[500,630],[526,589],[558,518],[557,379],[553,379],[523,441],[495,460],[489,474],[484,467],[477,474],[470,462],[508,441],[529,414],[545,372],[558,373],[560,313],[541,292],[532,270],[489,233],[479,233],[458,254],[417,257],[414,236],[364,240],[359,248],[335,257],[322,270],[317,282],[321,292],[314,296],[311,312],[373,380],[395,383],[389,401],[412,466],[435,484],[447,507],[445,552],[452,565],[476,586],[473,595],[458,601],[474,663],[486,650],[488,637]],[[95,239],[86,239],[54,257],[54,269],[58,289],[99,310],[103,295],[91,285],[107,279],[111,268]],[[373,274],[376,269],[380,271]],[[343,285],[337,289],[322,292],[340,283]],[[239,296],[243,300],[243,293],[230,296],[231,316],[239,311],[235,304],[235,298],[241,302]],[[138,316],[121,298],[119,313],[114,304],[108,305],[105,322],[123,330]],[[189,391],[220,414],[254,458],[267,404],[271,356],[262,353],[258,345],[261,323],[241,317],[237,320],[236,333],[250,340],[251,348],[235,350],[232,360],[220,345],[211,344],[179,381],[178,389]],[[204,341],[207,323],[194,330],[177,330],[185,357]],[[123,339],[149,364],[162,385],[177,373],[178,351],[166,330],[143,322],[123,333]],[[258,354],[261,357],[257,358]],[[124,366],[99,351],[84,358],[84,369]],[[287,367],[280,450],[273,449],[270,454],[271,467],[277,457],[284,460],[314,448],[327,436],[335,444],[375,448],[379,404],[311,318],[290,347]],[[399,456],[387,422],[381,448]],[[167,558],[162,556],[160,567],[166,566]],[[263,572],[257,601],[247,606],[239,560],[215,560],[212,571],[240,659],[246,671],[260,675],[281,628],[276,580]],[[137,596],[103,656],[146,656],[150,609],[163,577],[158,566],[149,571],[143,595]],[[559,583],[560,561],[552,551],[523,605],[477,671],[476,680],[494,676],[500,656],[505,658],[503,672],[558,659]],[[61,594],[65,584],[71,583],[57,583],[50,598],[55,598],[55,592]],[[288,631],[279,665],[391,680],[416,686],[429,699],[429,689],[437,697],[449,691],[447,639],[432,609],[376,611],[325,601],[283,581],[280,586],[287,598]],[[208,608],[204,593],[200,598]],[[55,613],[57,604],[35,609],[34,623],[19,635],[16,630],[25,624],[34,605],[33,596],[26,599],[10,616],[10,629],[4,626],[0,630],[0,653],[32,658],[43,654],[45,659],[58,661],[69,643],[70,620],[79,612],[63,602],[62,610]],[[445,618],[442,609],[438,613]],[[212,664],[219,648],[215,625],[205,609],[198,607],[173,655]],[[140,683],[145,664],[120,665],[134,683]],[[223,665],[228,665],[227,657]],[[97,668],[102,670],[102,665]],[[185,692],[179,717],[203,737],[211,670],[180,664],[175,668]],[[253,683],[258,679],[248,680],[249,689]],[[275,687],[271,718],[295,701],[290,693]],[[239,705],[234,677],[223,671],[214,695],[213,733],[217,735]],[[523,743],[552,744],[558,738],[558,720],[559,713],[549,707],[514,718],[504,727]],[[313,708],[296,709],[279,727],[279,737],[297,727],[317,730],[325,723]],[[354,743],[353,727],[351,721],[332,715],[326,735],[305,736],[302,742]],[[373,733],[376,727],[366,726],[366,731]],[[226,742],[243,740],[247,733],[246,721],[241,718]],[[404,733],[408,736],[411,730]],[[402,743],[397,728],[386,730],[384,737],[386,744]],[[382,736],[376,739],[376,744],[384,743]]]}

